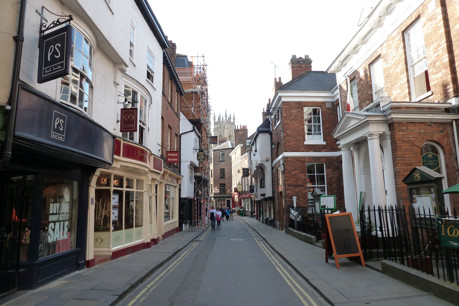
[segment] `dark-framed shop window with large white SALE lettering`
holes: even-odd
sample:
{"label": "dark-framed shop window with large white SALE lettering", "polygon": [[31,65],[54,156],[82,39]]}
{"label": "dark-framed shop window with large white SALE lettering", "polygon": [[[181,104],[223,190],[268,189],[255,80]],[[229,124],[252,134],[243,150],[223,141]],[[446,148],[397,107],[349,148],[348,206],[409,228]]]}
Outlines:
{"label": "dark-framed shop window with large white SALE lettering", "polygon": [[75,248],[78,182],[45,177],[39,258]]}

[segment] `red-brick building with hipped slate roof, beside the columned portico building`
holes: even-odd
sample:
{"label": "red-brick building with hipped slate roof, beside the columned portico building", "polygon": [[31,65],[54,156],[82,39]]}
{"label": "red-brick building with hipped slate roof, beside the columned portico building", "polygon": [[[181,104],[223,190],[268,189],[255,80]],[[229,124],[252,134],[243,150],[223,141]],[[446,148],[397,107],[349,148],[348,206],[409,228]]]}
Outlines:
{"label": "red-brick building with hipped slate roof, beside the columned portico building", "polygon": [[[312,206],[311,193],[336,195],[344,204],[341,187],[341,152],[332,133],[338,123],[336,76],[312,71],[312,60],[292,56],[290,82],[275,80],[274,97],[267,105],[273,145],[274,219],[284,228],[286,206]],[[270,115],[271,114],[271,115]]]}

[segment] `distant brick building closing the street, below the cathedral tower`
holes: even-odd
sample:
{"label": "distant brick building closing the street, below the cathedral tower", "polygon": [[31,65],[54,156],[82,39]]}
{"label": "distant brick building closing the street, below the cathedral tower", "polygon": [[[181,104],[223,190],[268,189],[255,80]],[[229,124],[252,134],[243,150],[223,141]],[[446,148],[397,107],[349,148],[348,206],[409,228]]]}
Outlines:
{"label": "distant brick building closing the street, below the cathedral tower", "polygon": [[229,140],[212,150],[210,167],[211,200],[212,205],[216,207],[232,207],[231,157],[229,156],[232,150],[234,150],[234,143]]}

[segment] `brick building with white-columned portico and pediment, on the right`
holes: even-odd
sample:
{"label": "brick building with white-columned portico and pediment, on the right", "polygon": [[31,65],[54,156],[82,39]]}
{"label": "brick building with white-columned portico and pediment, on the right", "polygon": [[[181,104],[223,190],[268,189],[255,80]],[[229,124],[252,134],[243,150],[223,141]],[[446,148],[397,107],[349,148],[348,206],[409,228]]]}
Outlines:
{"label": "brick building with white-columned portico and pediment, on the right", "polygon": [[[443,189],[458,183],[453,11],[449,0],[382,1],[327,68],[339,85],[342,118],[333,136],[348,211],[361,191],[369,205],[411,206],[402,180],[416,166],[441,173]],[[436,207],[432,197],[432,210],[458,209],[457,195],[444,198],[445,206]]]}

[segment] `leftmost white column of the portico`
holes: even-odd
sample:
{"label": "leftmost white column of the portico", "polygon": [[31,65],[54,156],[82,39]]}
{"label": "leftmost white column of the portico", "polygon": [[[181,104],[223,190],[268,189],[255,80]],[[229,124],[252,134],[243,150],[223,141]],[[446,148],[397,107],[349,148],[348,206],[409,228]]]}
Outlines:
{"label": "leftmost white column of the portico", "polygon": [[354,221],[357,220],[357,201],[355,197],[354,169],[352,165],[352,151],[349,145],[340,145],[341,156],[343,159],[343,187],[344,203],[347,212],[352,212]]}

